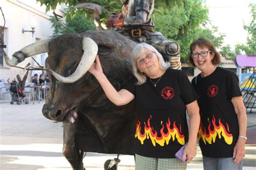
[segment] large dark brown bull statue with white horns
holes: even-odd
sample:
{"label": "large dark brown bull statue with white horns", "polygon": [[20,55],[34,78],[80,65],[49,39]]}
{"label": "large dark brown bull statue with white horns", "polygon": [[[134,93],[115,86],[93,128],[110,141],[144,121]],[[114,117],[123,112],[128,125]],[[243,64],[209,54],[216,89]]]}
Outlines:
{"label": "large dark brown bull statue with white horns", "polygon": [[134,154],[134,102],[114,105],[87,70],[98,54],[105,75],[119,90],[133,79],[129,56],[136,44],[116,31],[86,31],[37,41],[14,53],[11,60],[5,56],[9,66],[16,66],[48,52],[45,66],[51,86],[42,112],[63,122],[63,154],[73,169],[84,169],[84,152]]}

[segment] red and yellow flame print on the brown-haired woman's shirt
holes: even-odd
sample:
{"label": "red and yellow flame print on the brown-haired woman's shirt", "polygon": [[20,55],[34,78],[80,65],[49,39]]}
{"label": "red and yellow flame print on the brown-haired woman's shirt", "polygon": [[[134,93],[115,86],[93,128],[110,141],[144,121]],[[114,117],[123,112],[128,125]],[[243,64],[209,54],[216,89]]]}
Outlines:
{"label": "red and yellow flame print on the brown-haired woman's shirt", "polygon": [[[206,132],[206,128],[200,122],[199,131],[198,131],[198,140],[201,138],[205,144],[206,144],[206,141],[208,144],[212,144],[212,143],[215,143],[215,140],[216,140],[216,137],[218,134],[219,139],[222,136],[228,145],[232,144],[233,136],[230,133],[230,128],[227,123],[226,123],[226,125],[227,125],[227,129],[226,129],[225,126],[223,125],[223,123],[221,123],[220,118],[219,118],[219,126],[218,126],[216,124],[214,115],[213,115],[211,122],[209,121],[209,118],[208,118],[208,122],[209,122],[209,125],[208,125],[209,133]],[[211,124],[214,127],[213,130],[211,130]]]}

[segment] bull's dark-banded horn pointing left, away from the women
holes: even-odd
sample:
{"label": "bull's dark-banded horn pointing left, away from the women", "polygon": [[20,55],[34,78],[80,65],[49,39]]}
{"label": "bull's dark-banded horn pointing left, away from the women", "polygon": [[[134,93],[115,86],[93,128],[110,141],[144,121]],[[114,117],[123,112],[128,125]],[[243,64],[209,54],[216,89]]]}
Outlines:
{"label": "bull's dark-banded horn pointing left, away from the women", "polygon": [[52,39],[40,40],[33,44],[25,46],[20,51],[15,52],[12,55],[11,60],[9,56],[5,53],[4,59],[6,64],[10,67],[14,67],[18,63],[24,61],[26,58],[29,58],[30,56],[49,52],[49,43],[51,42],[51,40]]}

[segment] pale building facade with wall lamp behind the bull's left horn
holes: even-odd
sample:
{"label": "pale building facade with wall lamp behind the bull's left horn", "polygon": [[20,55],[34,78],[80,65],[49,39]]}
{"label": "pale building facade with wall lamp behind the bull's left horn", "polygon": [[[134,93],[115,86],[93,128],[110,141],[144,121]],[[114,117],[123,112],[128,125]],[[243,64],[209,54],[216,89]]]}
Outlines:
{"label": "pale building facade with wall lamp behind the bull's left horn", "polygon": [[[6,81],[13,80],[17,74],[23,77],[25,72],[22,69],[7,66],[3,59],[3,50],[11,58],[12,54],[26,45],[51,38],[53,28],[49,18],[53,13],[52,11],[46,13],[45,6],[41,6],[35,0],[1,0],[0,7],[4,15],[4,18],[2,13],[0,15],[0,45],[6,45],[6,48],[0,48],[0,79]],[[64,6],[58,6],[55,12],[63,14],[61,12],[63,8]],[[23,32],[32,31],[31,27],[35,27],[33,29],[35,32]],[[34,57],[44,66],[47,54]],[[25,59],[18,66],[24,67],[29,62],[31,66],[36,66],[32,58]],[[29,74],[31,76],[33,73]]]}

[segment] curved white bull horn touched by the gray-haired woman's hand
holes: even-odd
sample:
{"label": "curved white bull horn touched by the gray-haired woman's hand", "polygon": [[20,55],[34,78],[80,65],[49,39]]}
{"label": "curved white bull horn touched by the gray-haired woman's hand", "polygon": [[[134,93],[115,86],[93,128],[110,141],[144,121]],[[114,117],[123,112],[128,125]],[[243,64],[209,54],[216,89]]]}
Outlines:
{"label": "curved white bull horn touched by the gray-haired woman's hand", "polygon": [[63,83],[73,83],[79,80],[81,77],[85,75],[87,70],[91,67],[92,63],[95,61],[96,55],[98,53],[98,46],[95,41],[93,41],[89,37],[85,37],[82,40],[84,54],[82,59],[77,66],[75,72],[68,77],[63,77],[53,70],[49,70],[53,76],[59,81]]}

